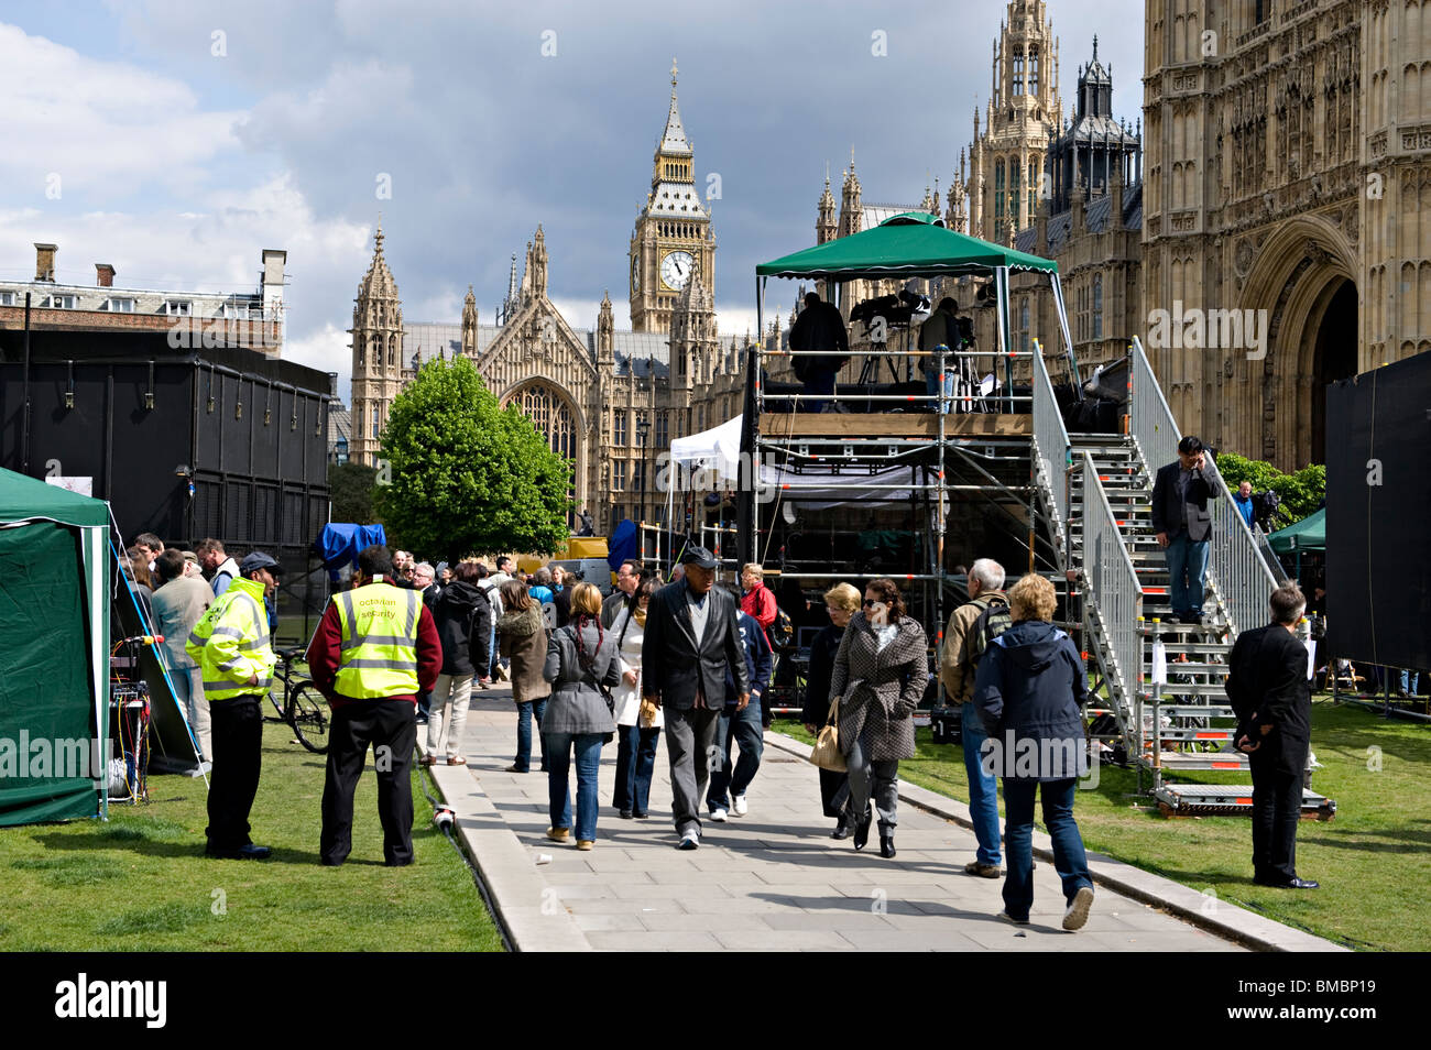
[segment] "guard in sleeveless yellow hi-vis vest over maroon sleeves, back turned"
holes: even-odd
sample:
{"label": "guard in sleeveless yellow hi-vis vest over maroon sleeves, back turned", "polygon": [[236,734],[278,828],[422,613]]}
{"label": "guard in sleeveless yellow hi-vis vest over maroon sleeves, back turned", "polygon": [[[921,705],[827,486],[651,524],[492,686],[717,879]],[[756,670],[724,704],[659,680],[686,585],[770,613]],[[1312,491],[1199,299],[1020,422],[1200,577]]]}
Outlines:
{"label": "guard in sleeveless yellow hi-vis vest over maroon sleeves, back turned", "polygon": [[419,591],[394,587],[392,555],[358,555],[353,589],[333,595],[308,647],[308,669],[333,708],[323,785],[323,864],[352,851],[353,790],[372,744],[378,771],[382,853],[391,867],[412,863],[412,781],[418,694],[442,669],[442,642]]}

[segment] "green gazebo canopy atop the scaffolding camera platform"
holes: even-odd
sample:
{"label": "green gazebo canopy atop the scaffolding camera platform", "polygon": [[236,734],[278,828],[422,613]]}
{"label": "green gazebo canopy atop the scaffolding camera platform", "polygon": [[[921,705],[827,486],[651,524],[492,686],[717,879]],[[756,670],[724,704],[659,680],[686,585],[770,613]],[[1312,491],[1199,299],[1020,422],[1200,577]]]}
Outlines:
{"label": "green gazebo canopy atop the scaffolding camera platform", "polygon": [[760,278],[890,278],[989,275],[1010,270],[1058,273],[1058,263],[934,225],[926,212],[904,212],[873,229],[760,263]]}

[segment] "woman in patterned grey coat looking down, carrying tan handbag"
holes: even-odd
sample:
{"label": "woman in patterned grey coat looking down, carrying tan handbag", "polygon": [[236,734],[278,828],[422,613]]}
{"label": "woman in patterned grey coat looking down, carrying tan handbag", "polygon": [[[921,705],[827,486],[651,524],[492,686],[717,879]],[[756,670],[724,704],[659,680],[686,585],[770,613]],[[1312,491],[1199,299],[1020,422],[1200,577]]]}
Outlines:
{"label": "woman in patterned grey coat looking down, carrying tan handbag", "polygon": [[871,579],[830,675],[830,695],[840,697],[840,750],[850,767],[846,825],[854,828],[856,850],[870,840],[873,795],[880,855],[894,855],[899,760],[914,757],[914,708],[927,684],[924,628],[904,611],[893,579]]}

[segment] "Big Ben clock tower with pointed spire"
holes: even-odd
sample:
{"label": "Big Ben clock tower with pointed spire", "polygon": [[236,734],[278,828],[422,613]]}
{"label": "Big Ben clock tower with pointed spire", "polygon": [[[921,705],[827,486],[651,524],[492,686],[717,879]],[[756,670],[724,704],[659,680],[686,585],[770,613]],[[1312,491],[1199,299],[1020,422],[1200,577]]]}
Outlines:
{"label": "Big Ben clock tower with pointed spire", "polygon": [[695,186],[694,163],[675,103],[673,59],[671,110],[655,146],[651,192],[631,235],[631,329],[635,332],[670,332],[671,310],[697,270],[714,300],[716,236]]}

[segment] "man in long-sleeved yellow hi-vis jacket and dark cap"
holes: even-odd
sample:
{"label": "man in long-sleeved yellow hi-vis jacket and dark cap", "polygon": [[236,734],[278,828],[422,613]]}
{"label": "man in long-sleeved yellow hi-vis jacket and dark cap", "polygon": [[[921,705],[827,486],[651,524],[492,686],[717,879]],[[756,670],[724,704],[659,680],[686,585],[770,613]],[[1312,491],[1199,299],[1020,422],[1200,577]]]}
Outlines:
{"label": "man in long-sleeved yellow hi-vis jacket and dark cap", "polygon": [[273,682],[278,662],[263,598],[278,589],[282,572],[262,551],[248,555],[239,564],[239,578],[213,599],[185,645],[199,664],[209,700],[213,772],[205,834],[210,857],[263,860],[270,853],[249,838],[249,810],[263,761],[259,702]]}

